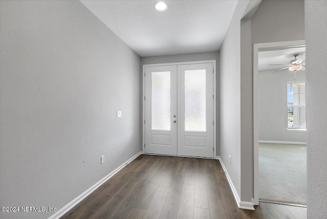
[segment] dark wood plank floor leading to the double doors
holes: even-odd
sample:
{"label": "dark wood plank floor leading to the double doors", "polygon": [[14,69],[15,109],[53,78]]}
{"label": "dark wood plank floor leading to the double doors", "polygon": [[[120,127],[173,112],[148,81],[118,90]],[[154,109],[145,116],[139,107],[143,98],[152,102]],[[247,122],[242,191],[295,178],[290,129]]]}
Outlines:
{"label": "dark wood plank floor leading to the double doors", "polygon": [[306,218],[306,208],[237,207],[218,160],[141,155],[61,218]]}

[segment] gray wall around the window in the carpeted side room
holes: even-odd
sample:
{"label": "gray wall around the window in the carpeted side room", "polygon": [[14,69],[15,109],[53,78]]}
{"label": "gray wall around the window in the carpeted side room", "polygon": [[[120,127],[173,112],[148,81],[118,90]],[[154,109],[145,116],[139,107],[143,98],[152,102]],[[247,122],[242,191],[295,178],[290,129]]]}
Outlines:
{"label": "gray wall around the window in the carpeted side room", "polygon": [[[259,140],[307,142],[307,132],[287,130],[287,83],[293,81],[288,70],[259,72]],[[306,71],[297,71],[296,81],[306,81]]]}

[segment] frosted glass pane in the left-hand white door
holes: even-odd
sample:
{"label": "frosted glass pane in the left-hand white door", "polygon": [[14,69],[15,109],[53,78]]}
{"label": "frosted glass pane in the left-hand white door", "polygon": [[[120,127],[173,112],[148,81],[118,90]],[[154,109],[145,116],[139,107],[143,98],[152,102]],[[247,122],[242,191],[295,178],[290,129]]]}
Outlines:
{"label": "frosted glass pane in the left-hand white door", "polygon": [[151,129],[170,130],[170,72],[151,73]]}

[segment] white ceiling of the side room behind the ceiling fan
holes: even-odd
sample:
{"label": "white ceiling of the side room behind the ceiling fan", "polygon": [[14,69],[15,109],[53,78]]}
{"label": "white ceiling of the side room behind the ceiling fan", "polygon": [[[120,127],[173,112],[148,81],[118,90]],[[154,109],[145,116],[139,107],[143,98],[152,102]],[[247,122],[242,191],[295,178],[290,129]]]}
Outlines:
{"label": "white ceiling of the side room behind the ceiling fan", "polygon": [[[281,48],[278,50],[268,50],[259,52],[259,66],[258,69],[262,71],[276,71],[286,66],[283,65],[269,65],[269,64],[288,64],[293,60],[293,54],[299,54],[297,57],[299,62],[304,62],[306,59],[306,48]],[[304,68],[303,68],[304,69]],[[283,71],[289,71],[288,69]]]}

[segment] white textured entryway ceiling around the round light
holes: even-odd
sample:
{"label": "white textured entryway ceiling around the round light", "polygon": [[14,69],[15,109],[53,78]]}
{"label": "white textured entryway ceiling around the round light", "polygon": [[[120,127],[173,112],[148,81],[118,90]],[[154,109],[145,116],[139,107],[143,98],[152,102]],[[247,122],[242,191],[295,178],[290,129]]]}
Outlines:
{"label": "white textured entryway ceiling around the round light", "polygon": [[238,1],[80,0],[139,56],[218,51]]}

